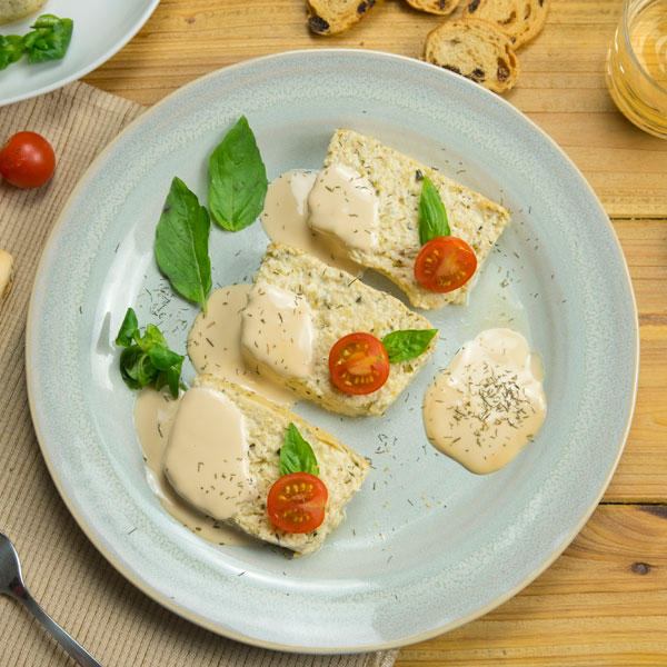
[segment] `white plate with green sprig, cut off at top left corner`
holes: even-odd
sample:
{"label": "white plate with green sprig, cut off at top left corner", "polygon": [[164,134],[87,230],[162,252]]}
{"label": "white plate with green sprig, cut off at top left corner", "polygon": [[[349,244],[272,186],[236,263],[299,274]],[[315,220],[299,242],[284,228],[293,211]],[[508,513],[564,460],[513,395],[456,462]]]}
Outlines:
{"label": "white plate with green sprig, cut off at top left corner", "polygon": [[0,71],[0,107],[84,77],[122,49],[146,23],[159,0],[48,0],[36,13],[0,26],[0,34],[26,34],[43,13],[72,19],[72,41],[61,60],[28,64],[26,58]]}

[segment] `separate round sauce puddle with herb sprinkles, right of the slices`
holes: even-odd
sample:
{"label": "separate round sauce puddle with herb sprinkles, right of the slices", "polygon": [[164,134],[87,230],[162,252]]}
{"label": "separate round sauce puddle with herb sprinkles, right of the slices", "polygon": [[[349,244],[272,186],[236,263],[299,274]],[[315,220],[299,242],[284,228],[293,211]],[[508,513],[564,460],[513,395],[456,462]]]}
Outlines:
{"label": "separate round sauce puddle with herb sprinkles, right of the slices", "polygon": [[506,466],[540,429],[547,410],[539,357],[510,329],[487,329],[428,388],[426,435],[471,472]]}

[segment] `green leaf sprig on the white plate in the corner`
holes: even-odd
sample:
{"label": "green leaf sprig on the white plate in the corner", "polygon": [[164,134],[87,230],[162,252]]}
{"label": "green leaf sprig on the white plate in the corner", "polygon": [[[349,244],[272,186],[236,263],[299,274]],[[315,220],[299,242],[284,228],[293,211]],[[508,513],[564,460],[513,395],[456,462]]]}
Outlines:
{"label": "green leaf sprig on the white plate in the corner", "polygon": [[72,39],[74,23],[71,19],[59,19],[53,14],[42,14],[23,37],[0,36],[0,70],[17,62],[28,53],[28,62],[47,62],[64,57]]}

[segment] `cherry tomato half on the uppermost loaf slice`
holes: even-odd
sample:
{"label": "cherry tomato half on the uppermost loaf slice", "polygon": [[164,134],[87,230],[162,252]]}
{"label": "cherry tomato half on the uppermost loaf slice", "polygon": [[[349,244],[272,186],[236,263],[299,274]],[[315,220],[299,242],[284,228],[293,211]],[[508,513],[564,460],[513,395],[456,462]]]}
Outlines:
{"label": "cherry tomato half on the uppermost loaf slice", "polygon": [[475,251],[456,237],[436,237],[421,248],[415,260],[415,278],[426,289],[455,290],[470,280],[477,268]]}

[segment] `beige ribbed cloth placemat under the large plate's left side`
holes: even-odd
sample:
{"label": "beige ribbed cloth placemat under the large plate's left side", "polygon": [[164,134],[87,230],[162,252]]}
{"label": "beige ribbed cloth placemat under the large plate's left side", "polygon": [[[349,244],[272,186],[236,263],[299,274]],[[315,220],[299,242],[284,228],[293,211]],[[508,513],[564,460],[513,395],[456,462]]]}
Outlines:
{"label": "beige ribbed cloth placemat under the large plate's left side", "polygon": [[[13,288],[0,310],[0,529],[19,551],[33,597],[106,667],[390,667],[397,651],[281,654],[237,644],[182,620],[107,563],[51,482],[26,392],[30,290],[41,250],[70,191],[94,156],[142,111],[80,82],[0,108],[0,140],[33,130],[49,139],[58,156],[56,173],[42,188],[19,190],[0,182],[0,248],[13,255],[17,265]],[[18,603],[0,596],[0,666],[70,664]]]}

